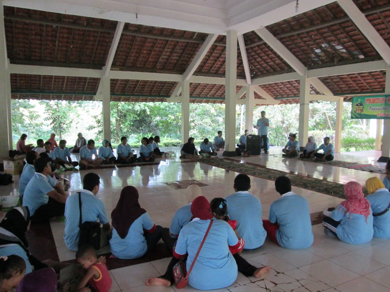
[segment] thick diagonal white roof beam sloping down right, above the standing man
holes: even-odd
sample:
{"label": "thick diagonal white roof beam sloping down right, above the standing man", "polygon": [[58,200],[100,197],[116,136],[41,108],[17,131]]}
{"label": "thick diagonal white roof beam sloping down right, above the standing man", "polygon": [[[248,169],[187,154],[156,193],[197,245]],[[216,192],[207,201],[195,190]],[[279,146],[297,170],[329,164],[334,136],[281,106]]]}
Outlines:
{"label": "thick diagonal white roof beam sloping down right, above the standing man", "polygon": [[255,30],[255,32],[266,42],[275,52],[278,53],[293,69],[301,76],[305,75],[306,67],[296,56],[293,55],[276,37],[265,27]]}

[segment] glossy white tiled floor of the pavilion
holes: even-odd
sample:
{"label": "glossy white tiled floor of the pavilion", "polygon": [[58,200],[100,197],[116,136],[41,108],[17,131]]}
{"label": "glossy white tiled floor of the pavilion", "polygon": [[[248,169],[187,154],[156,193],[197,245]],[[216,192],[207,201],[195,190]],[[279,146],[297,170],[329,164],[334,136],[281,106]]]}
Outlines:
{"label": "glossy white tiled floor of the pavilion", "polygon": [[[168,149],[167,149],[168,150]],[[178,151],[178,148],[170,150]],[[246,157],[243,160],[266,165],[266,167],[294,172],[303,176],[314,176],[339,183],[358,181],[362,185],[371,176],[383,178],[382,174],[332,167],[310,161],[291,160],[281,157],[280,148],[271,147],[269,155]],[[221,156],[222,152],[218,154]],[[378,164],[380,151],[364,151],[336,154],[335,159]],[[238,157],[237,157],[238,158]],[[178,158],[161,160],[158,165],[129,166],[114,169],[92,170],[101,177],[98,197],[105,203],[108,214],[115,207],[121,189],[126,185],[135,186],[140,193],[140,204],[147,210],[156,225],[168,227],[175,211],[186,204],[185,189],[174,189],[166,182],[195,179],[207,186],[202,192],[211,200],[225,197],[234,192],[233,181],[237,173],[202,164],[199,162],[181,163]],[[65,177],[71,180],[71,190],[82,188],[82,178],[88,171],[68,172]],[[268,218],[271,202],[278,199],[273,181],[251,177],[251,192],[259,197],[263,207],[263,218]],[[0,195],[8,195],[17,190],[18,182],[0,188]],[[310,213],[323,211],[337,205],[341,200],[322,193],[293,187],[293,191],[307,198]],[[60,260],[74,259],[74,252],[64,245],[64,223],[51,222],[55,245]],[[262,279],[245,277],[239,273],[235,283],[216,291],[261,292],[261,291],[389,291],[390,292],[390,241],[373,239],[365,245],[349,245],[323,232],[321,224],[313,225],[314,243],[305,250],[287,250],[266,240],[259,250],[243,252],[255,266],[268,265],[272,269]],[[101,251],[109,252],[103,249]],[[165,272],[169,258],[145,262],[119,269],[112,269],[112,292],[134,291],[174,291],[176,287],[147,287],[145,280]],[[193,291],[186,287],[181,291]]]}

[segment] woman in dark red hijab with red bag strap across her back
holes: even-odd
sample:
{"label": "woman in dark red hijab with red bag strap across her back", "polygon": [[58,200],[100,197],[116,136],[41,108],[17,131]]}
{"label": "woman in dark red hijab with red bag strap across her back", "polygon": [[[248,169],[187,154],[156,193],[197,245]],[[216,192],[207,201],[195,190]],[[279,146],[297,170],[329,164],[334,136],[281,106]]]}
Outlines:
{"label": "woman in dark red hijab with red bag strap across her back", "polygon": [[[147,286],[172,285],[174,283],[172,268],[177,259],[183,259],[187,253],[187,271],[190,268],[213,218],[210,204],[203,196],[193,200],[191,213],[193,215],[192,221],[180,230],[176,248],[173,251],[174,258],[171,260],[167,271],[158,278],[149,278],[145,283]],[[193,265],[188,283],[199,290],[219,289],[234,283],[238,271],[236,261],[229,251],[229,246],[235,247],[239,244],[234,230],[227,222],[213,220],[204,245]]]}

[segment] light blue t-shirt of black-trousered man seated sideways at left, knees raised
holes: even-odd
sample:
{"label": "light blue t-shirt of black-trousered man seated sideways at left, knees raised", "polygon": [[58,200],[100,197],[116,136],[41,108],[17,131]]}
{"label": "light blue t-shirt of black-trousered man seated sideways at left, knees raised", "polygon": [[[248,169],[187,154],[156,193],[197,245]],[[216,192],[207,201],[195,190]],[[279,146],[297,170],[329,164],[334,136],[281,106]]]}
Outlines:
{"label": "light blue t-shirt of black-trousered man seated sideways at left, knees raised", "polygon": [[44,176],[39,172],[35,172],[34,176],[28,182],[23,195],[23,206],[27,206],[30,210],[30,216],[34,215],[35,211],[49,201],[49,196],[53,186],[56,185],[54,179],[50,176]]}

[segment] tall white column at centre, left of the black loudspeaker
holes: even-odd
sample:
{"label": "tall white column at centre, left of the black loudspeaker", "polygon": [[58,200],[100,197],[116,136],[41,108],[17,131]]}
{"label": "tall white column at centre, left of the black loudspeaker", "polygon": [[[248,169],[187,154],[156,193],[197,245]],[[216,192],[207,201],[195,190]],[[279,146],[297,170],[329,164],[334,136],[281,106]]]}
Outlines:
{"label": "tall white column at centre, left of the black loudspeaker", "polygon": [[225,151],[236,150],[237,32],[226,35]]}

